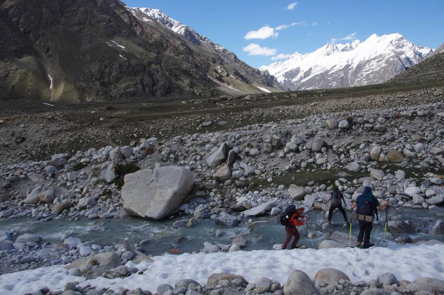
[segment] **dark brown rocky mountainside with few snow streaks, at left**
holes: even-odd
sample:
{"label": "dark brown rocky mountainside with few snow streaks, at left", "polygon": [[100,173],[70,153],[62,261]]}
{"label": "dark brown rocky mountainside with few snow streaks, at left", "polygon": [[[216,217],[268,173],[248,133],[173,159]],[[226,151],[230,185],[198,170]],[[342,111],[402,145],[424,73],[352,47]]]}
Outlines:
{"label": "dark brown rocky mountainside with few snow streaks, at left", "polygon": [[0,4],[3,99],[108,101],[254,93],[276,81],[119,0]]}

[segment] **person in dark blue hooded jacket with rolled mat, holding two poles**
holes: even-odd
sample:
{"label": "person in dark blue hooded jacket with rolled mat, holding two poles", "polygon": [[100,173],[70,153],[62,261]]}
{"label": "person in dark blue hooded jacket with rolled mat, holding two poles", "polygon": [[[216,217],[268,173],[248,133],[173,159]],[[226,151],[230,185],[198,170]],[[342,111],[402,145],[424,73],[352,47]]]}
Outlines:
{"label": "person in dark blue hooded jacket with rolled mat, holding two poles", "polygon": [[378,209],[385,210],[388,205],[390,205],[389,201],[386,201],[384,205],[381,205],[378,199],[376,199],[376,197],[372,194],[372,188],[369,186],[366,186],[364,188],[364,192],[356,199],[356,202],[351,204],[351,209],[356,207],[356,217],[359,221],[359,235],[356,241],[356,247],[361,246],[363,237],[363,249],[374,246],[373,244],[370,244],[370,233],[373,229],[373,218],[376,215],[376,220],[379,220]]}

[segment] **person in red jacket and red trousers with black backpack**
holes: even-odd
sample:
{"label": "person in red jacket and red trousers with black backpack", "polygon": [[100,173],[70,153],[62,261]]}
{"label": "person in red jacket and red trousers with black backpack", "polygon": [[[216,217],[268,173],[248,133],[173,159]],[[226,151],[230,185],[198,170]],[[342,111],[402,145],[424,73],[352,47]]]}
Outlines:
{"label": "person in red jacket and red trousers with black backpack", "polygon": [[281,215],[281,223],[285,225],[285,241],[282,244],[282,249],[286,249],[287,244],[291,241],[291,238],[294,236],[294,240],[291,243],[291,249],[297,249],[299,248],[297,245],[297,242],[299,241],[300,235],[299,231],[297,230],[296,226],[300,226],[306,223],[306,219],[303,221],[299,221],[298,218],[305,218],[304,215],[304,208],[298,208],[296,209],[296,206],[290,205],[288,206],[284,213]]}

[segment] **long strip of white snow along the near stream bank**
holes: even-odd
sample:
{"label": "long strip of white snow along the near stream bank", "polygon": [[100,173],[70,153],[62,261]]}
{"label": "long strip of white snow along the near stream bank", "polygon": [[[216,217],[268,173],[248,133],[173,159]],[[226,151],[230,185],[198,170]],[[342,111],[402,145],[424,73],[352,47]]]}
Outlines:
{"label": "long strip of white snow along the near stream bank", "polygon": [[[144,274],[133,274],[124,279],[96,278],[85,280],[82,286],[91,284],[98,288],[111,287],[155,291],[160,284],[174,285],[185,278],[205,285],[208,277],[216,272],[239,274],[249,282],[261,277],[278,280],[285,284],[291,271],[305,271],[311,279],[321,268],[331,267],[344,271],[351,282],[371,281],[382,273],[392,272],[398,279],[414,281],[420,277],[444,280],[444,247],[442,245],[408,245],[372,249],[333,248],[306,250],[256,250],[213,254],[182,254],[153,257],[154,263],[134,265],[147,268]],[[20,295],[35,292],[44,286],[51,290],[63,290],[66,282],[82,281],[81,277],[69,276],[60,266],[25,270],[0,276],[0,294]]]}

